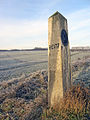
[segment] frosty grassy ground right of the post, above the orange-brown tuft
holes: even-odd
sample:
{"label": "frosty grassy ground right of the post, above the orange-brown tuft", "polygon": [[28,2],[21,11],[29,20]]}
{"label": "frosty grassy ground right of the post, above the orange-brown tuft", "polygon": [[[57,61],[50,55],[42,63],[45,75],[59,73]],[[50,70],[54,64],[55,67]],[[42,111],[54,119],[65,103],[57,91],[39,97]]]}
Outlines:
{"label": "frosty grassy ground right of the post, above the orange-brown tuft", "polygon": [[72,52],[71,61],[73,83],[84,83],[90,88],[90,51]]}

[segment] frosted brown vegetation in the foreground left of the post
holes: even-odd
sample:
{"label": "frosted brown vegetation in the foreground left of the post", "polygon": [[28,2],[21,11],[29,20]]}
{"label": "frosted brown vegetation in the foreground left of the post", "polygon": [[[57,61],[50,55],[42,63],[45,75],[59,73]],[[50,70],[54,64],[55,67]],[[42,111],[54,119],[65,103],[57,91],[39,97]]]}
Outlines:
{"label": "frosted brown vegetation in the foreground left of the post", "polygon": [[47,98],[47,72],[0,84],[0,120],[40,119]]}

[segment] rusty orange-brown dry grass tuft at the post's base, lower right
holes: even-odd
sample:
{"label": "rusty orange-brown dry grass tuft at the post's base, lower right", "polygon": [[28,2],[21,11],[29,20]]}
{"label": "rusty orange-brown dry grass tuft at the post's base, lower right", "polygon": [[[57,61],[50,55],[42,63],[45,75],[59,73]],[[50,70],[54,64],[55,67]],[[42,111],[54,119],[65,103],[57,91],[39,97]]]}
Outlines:
{"label": "rusty orange-brown dry grass tuft at the post's base, lower right", "polygon": [[42,118],[43,120],[89,120],[89,90],[79,85],[72,86],[66,92],[60,104],[56,104],[53,108],[47,110]]}

